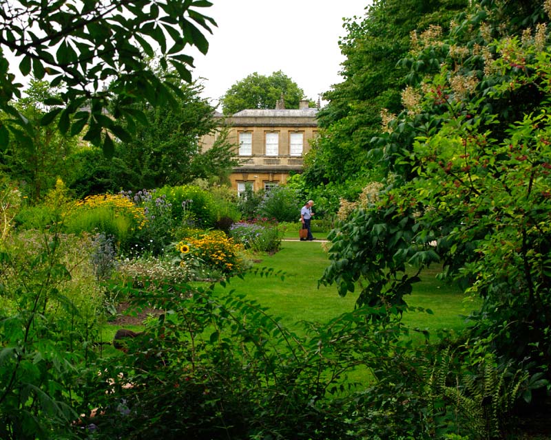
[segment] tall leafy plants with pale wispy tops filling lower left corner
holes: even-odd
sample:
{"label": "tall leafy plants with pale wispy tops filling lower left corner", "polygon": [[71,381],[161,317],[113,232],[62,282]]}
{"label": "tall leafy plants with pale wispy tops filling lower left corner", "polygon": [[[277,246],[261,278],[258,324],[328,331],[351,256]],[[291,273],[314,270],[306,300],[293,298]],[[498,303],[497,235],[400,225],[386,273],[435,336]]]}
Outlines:
{"label": "tall leafy plants with pale wispy tops filling lower left corner", "polygon": [[70,292],[62,258],[74,241],[56,234],[26,240],[27,248],[0,248],[1,295],[11,300],[0,311],[0,437],[74,438],[73,399],[95,357],[96,301],[90,290],[85,302]]}

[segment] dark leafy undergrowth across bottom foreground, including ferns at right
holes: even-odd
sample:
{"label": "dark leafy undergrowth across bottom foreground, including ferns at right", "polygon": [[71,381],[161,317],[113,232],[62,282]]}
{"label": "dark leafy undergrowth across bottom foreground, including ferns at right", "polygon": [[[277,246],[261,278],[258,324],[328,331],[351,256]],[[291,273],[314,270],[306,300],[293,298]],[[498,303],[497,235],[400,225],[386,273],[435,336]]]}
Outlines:
{"label": "dark leafy undergrowth across bottom foreground, including ferns at right", "polygon": [[[156,305],[166,314],[88,377],[88,398],[102,414],[83,423],[94,423],[98,439],[488,439],[506,427],[530,382],[541,386],[490,358],[473,358],[480,374],[470,376],[464,348],[450,355],[426,331],[427,343],[413,344],[415,331],[384,309],[303,322],[298,338],[235,292],[160,282],[125,293],[136,309]],[[373,315],[389,319],[366,320]],[[376,380],[356,383],[354,370]],[[486,396],[494,401],[484,404]]]}

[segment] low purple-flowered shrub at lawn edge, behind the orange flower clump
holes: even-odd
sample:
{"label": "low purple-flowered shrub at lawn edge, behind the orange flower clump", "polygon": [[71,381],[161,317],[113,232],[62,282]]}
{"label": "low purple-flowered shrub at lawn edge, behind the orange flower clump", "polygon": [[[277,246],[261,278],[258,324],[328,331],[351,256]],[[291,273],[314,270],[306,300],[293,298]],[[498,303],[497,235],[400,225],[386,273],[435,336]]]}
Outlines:
{"label": "low purple-flowered shrub at lawn edge, behind the orange flower clump", "polygon": [[233,223],[229,228],[229,235],[245,249],[256,252],[275,252],[281,245],[277,223],[271,223],[267,219]]}

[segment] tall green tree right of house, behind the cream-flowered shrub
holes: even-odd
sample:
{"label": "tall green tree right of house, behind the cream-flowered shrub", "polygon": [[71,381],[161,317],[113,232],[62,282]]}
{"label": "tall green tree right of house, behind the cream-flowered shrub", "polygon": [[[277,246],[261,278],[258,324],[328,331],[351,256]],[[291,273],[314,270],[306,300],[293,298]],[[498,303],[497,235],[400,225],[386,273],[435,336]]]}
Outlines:
{"label": "tall green tree right of house, behind the cream-flowered shrub", "polygon": [[346,56],[344,80],[324,94],[329,104],[318,115],[322,131],[304,160],[304,178],[311,188],[361,179],[377,168],[370,156],[371,140],[380,132],[381,110],[395,113],[401,107],[408,70],[397,62],[408,53],[411,32],[423,32],[430,25],[446,29],[466,4],[466,0],[378,0],[361,21],[346,21],[347,34],[340,41]]}

